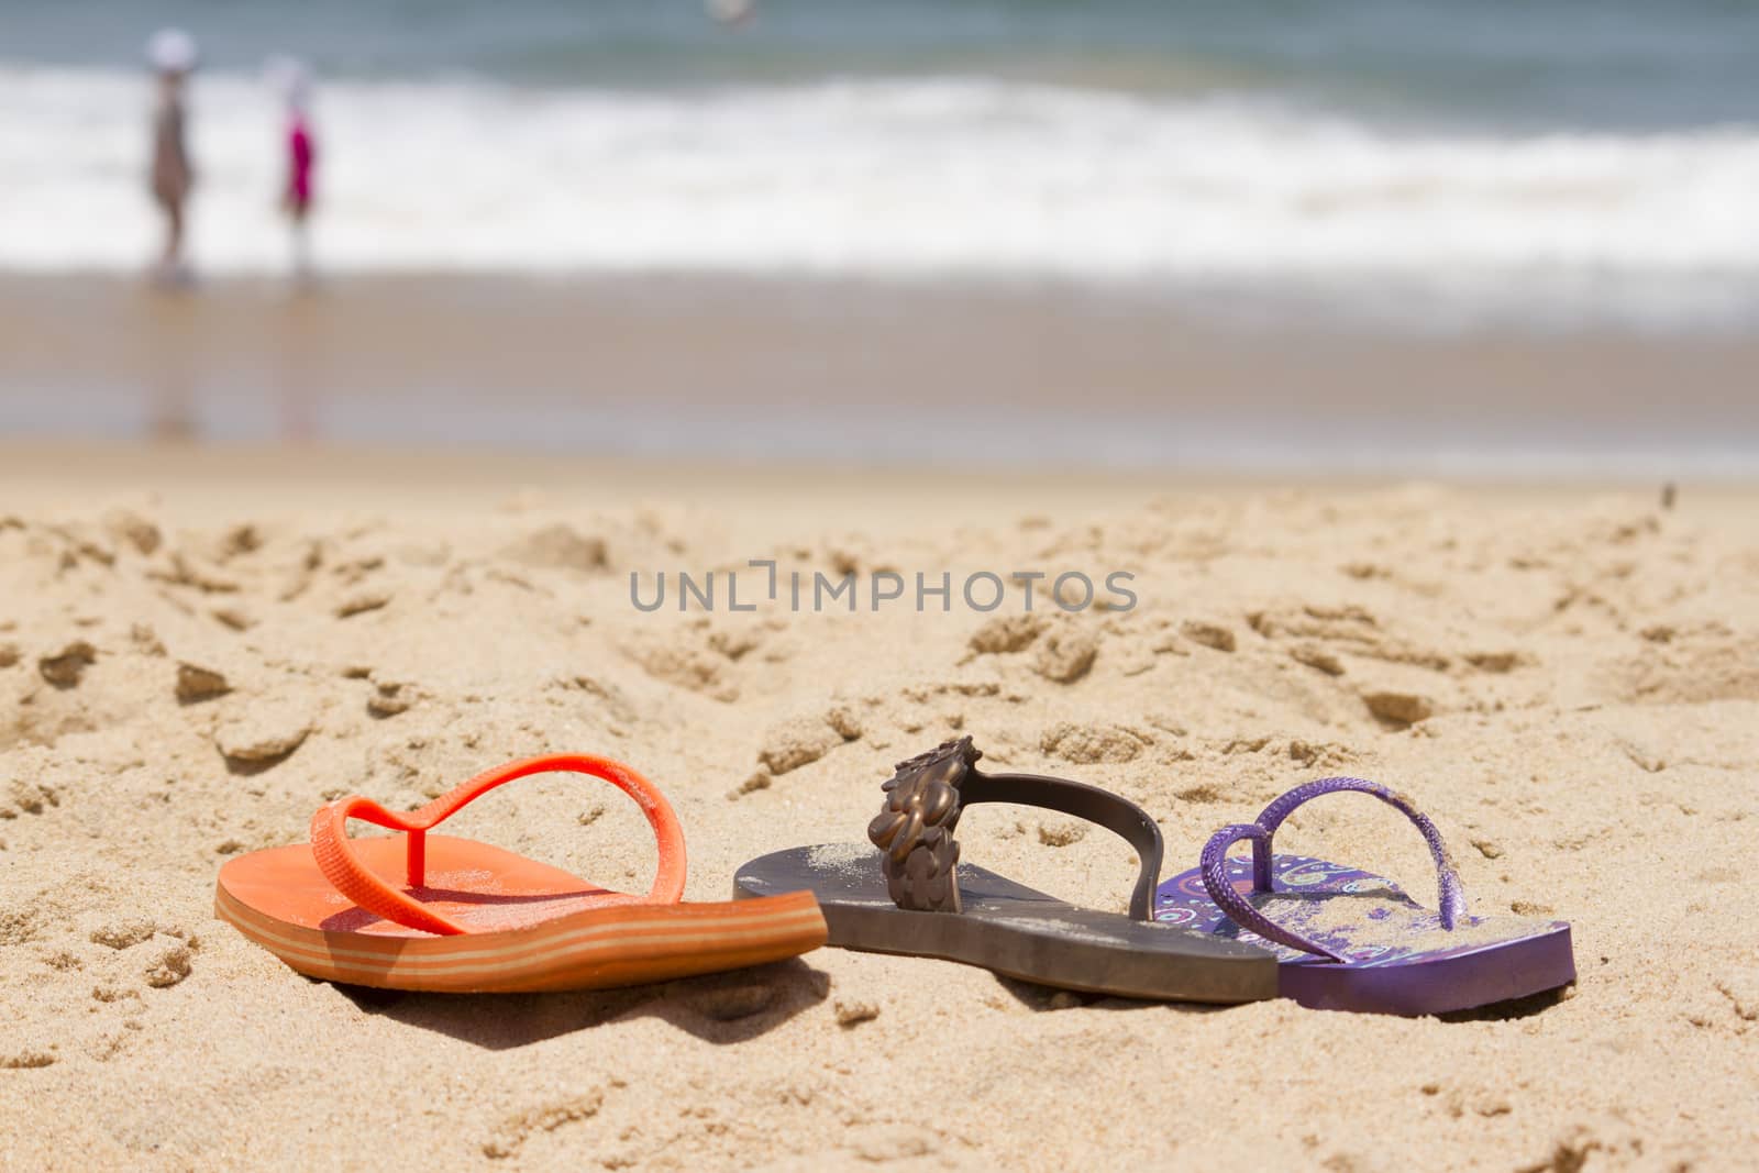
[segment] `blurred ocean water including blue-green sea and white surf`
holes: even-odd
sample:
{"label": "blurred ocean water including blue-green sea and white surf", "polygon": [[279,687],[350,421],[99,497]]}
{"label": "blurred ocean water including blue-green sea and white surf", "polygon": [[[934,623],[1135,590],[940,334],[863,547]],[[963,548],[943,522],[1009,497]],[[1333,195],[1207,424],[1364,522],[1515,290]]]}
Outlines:
{"label": "blurred ocean water including blue-green sea and white surf", "polygon": [[274,53],[331,271],[1305,290],[1432,318],[1759,318],[1745,0],[0,0],[0,269],[134,271],[160,23],[192,248],[273,273]]}

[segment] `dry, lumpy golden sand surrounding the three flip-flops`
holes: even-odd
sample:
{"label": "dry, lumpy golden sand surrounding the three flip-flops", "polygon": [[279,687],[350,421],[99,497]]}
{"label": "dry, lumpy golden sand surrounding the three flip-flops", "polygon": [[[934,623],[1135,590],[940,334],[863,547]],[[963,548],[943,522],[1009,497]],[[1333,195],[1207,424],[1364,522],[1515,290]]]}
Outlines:
{"label": "dry, lumpy golden sand surrounding the three flip-flops", "polygon": [[[264,484],[56,503],[39,477],[0,501],[0,1166],[1759,1161],[1754,494],[1660,512],[1652,494],[1129,489],[1103,508],[950,499],[923,524],[955,482],[894,499],[872,478],[841,519],[737,487],[464,506],[412,482]],[[818,498],[804,477],[792,494]],[[630,605],[631,570],[765,556],[955,580],[1131,570],[1140,605],[1006,623],[1013,607]],[[332,795],[417,804],[563,749],[656,779],[688,895],[719,899],[751,855],[858,839],[890,763],[953,732],[1142,802],[1170,869],[1298,781],[1395,783],[1476,909],[1574,923],[1580,983],[1398,1020],[821,950],[663,988],[394,995],[299,978],[211,916],[222,860],[297,842]],[[609,788],[540,779],[457,823],[647,883],[642,821]],[[1284,835],[1434,892],[1377,804],[1303,809]],[[985,809],[964,841],[1124,907],[1129,855],[1103,832]]]}

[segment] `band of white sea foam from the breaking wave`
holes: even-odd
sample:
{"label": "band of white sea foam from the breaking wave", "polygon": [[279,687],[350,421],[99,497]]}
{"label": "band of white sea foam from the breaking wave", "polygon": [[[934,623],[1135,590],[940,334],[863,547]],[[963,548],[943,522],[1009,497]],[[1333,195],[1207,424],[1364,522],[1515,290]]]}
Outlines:
{"label": "band of white sea foam from the breaking wave", "polygon": [[[0,267],[151,251],[150,90],[0,69]],[[278,114],[197,77],[197,262],[273,271]],[[1759,283],[1759,128],[1476,134],[978,79],[700,91],[332,83],[318,253],[355,271]]]}

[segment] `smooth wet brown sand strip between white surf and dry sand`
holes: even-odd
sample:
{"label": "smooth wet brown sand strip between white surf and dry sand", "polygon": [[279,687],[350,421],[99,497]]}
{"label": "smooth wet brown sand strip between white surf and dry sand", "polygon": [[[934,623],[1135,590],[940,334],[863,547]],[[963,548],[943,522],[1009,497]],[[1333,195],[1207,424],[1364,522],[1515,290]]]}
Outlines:
{"label": "smooth wet brown sand strip between white surf and dry sand", "polygon": [[1052,285],[0,276],[12,438],[1641,482],[1759,473],[1754,382],[1745,336],[1223,322]]}

